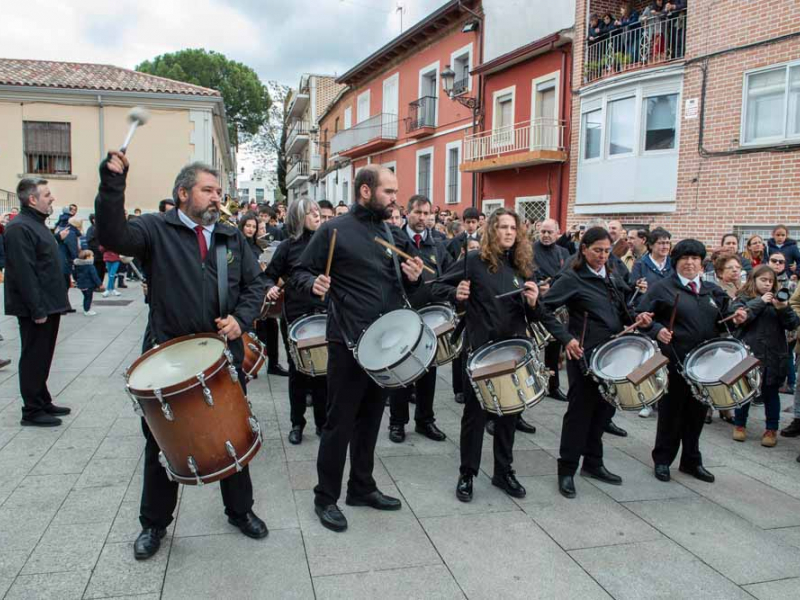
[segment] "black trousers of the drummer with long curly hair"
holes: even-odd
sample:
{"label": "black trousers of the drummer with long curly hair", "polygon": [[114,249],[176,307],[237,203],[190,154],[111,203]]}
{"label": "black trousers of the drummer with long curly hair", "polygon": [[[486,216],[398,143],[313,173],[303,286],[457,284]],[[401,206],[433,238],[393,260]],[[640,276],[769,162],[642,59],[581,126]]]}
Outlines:
{"label": "black trousers of the drummer with long curly hair", "polygon": [[[475,390],[467,377],[461,373],[464,389],[464,413],[461,415],[461,473],[477,475],[481,467],[483,432],[489,413],[475,395]],[[516,435],[518,415],[495,416],[494,437],[494,476],[502,477],[511,470],[514,462],[514,436]]]}

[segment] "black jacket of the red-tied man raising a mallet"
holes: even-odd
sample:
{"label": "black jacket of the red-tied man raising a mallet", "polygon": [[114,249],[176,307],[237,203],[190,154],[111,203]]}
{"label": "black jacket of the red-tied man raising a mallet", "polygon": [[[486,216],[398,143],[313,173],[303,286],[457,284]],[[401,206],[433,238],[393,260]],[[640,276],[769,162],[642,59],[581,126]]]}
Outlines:
{"label": "black jacket of the red-tied man raising a mallet", "polygon": [[[150,298],[150,326],[155,343],[192,333],[216,332],[220,316],[217,291],[217,244],[227,246],[228,312],[242,331],[258,316],[264,299],[264,277],[247,240],[234,227],[217,223],[205,262],[200,262],[197,236],[178,216],[150,213],[125,219],[125,179],[100,168],[95,224],[102,246],[135,256],[144,269]],[[241,360],[240,340],[230,343]]]}

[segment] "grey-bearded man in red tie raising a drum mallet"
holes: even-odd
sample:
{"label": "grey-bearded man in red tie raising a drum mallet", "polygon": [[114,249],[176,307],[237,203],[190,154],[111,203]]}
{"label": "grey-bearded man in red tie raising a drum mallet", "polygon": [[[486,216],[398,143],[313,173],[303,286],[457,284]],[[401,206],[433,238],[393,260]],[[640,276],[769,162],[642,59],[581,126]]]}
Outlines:
{"label": "grey-bearded man in red tie raising a drum mallet", "polygon": [[[180,336],[217,332],[227,337],[244,388],[244,347],[240,338],[258,316],[264,280],[244,236],[235,227],[218,222],[222,197],[219,173],[203,163],[184,167],[175,178],[172,192],[175,210],[128,221],[128,171],[128,158],[120,152],[110,152],[102,162],[95,215],[100,244],[137,257],[144,267],[150,300],[145,350]],[[228,305],[233,307],[224,318],[220,317],[217,291],[218,244],[227,246]],[[142,532],[133,546],[137,560],[150,558],[158,551],[178,501],[178,484],[169,480],[159,463],[158,444],[144,419],[142,430],[147,443],[139,510]],[[253,512],[253,485],[247,466],[220,481],[220,491],[231,525],[251,538],[267,536],[266,524]]]}

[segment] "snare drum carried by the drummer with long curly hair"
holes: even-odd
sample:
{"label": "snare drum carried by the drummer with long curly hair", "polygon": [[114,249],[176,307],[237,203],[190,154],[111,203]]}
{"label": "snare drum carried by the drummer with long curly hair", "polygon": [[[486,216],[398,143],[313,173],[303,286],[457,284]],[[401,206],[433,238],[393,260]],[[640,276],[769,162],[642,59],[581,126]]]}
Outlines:
{"label": "snare drum carried by the drummer with long curly hair", "polygon": [[499,416],[520,413],[538,404],[547,390],[536,347],[529,339],[512,338],[478,348],[467,361],[475,395]]}

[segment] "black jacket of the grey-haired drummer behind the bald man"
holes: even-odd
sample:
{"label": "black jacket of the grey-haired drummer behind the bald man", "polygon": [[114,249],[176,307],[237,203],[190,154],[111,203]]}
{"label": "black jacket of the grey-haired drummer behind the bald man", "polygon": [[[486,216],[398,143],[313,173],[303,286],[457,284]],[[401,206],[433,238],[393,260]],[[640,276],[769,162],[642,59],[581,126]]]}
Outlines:
{"label": "black jacket of the grey-haired drummer behind the bald man", "polygon": [[[305,293],[304,290],[297,287],[297,282],[291,279],[292,271],[300,262],[300,256],[302,256],[313,235],[313,231],[305,229],[299,239],[288,238],[283,240],[275,250],[275,254],[272,256],[272,260],[269,261],[265,271],[267,290],[272,286],[278,285],[279,279],[283,279],[285,283],[283,288],[283,316],[289,324],[303,315],[325,312],[328,308],[328,304],[323,302],[319,296]],[[337,240],[337,246],[338,244]]]}

